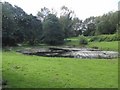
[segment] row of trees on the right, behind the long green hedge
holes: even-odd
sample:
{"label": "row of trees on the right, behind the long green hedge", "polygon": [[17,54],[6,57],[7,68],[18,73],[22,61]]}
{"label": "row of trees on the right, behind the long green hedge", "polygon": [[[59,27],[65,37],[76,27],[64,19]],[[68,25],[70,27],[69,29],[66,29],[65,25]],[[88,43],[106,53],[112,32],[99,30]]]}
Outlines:
{"label": "row of trees on the right, behind the long green hedge", "polygon": [[114,34],[118,29],[118,12],[109,12],[103,16],[90,17],[83,22],[83,35],[94,36]]}

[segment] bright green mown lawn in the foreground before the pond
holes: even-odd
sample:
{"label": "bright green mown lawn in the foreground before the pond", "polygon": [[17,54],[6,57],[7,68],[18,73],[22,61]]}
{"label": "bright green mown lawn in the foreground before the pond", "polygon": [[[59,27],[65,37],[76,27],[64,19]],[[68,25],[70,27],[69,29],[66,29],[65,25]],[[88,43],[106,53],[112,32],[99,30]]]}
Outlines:
{"label": "bright green mown lawn in the foreground before the pond", "polygon": [[3,79],[14,88],[116,88],[117,59],[73,59],[3,52]]}

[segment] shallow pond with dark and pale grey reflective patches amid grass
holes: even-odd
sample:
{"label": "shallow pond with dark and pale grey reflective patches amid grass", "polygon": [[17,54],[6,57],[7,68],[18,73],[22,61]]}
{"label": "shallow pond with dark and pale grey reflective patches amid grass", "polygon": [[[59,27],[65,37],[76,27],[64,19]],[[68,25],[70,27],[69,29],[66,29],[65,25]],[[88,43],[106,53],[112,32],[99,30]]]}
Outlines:
{"label": "shallow pond with dark and pale grey reflective patches amid grass", "polygon": [[118,52],[115,51],[101,51],[92,48],[29,48],[18,50],[17,52],[27,55],[37,55],[46,57],[70,57],[70,58],[104,58],[112,59],[118,57]]}

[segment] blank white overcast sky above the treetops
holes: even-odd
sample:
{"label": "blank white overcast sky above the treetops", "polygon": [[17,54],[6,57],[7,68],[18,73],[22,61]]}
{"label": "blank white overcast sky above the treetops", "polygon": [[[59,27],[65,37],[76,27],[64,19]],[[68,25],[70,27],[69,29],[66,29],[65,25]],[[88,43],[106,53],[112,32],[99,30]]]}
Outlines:
{"label": "blank white overcast sky above the treetops", "polygon": [[36,15],[41,8],[54,8],[60,12],[65,5],[74,10],[77,17],[85,19],[90,16],[99,16],[109,11],[118,10],[120,0],[2,0],[21,7],[28,14]]}

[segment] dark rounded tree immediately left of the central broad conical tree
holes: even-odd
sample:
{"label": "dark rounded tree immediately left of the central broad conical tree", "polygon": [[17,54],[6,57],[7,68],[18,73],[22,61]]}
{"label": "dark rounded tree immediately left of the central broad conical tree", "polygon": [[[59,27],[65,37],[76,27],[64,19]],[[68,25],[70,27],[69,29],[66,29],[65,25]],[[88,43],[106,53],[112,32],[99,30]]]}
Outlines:
{"label": "dark rounded tree immediately left of the central broad conical tree", "polygon": [[24,29],[25,42],[30,45],[40,42],[42,37],[42,23],[37,17],[32,14],[27,15],[21,21],[21,26]]}

